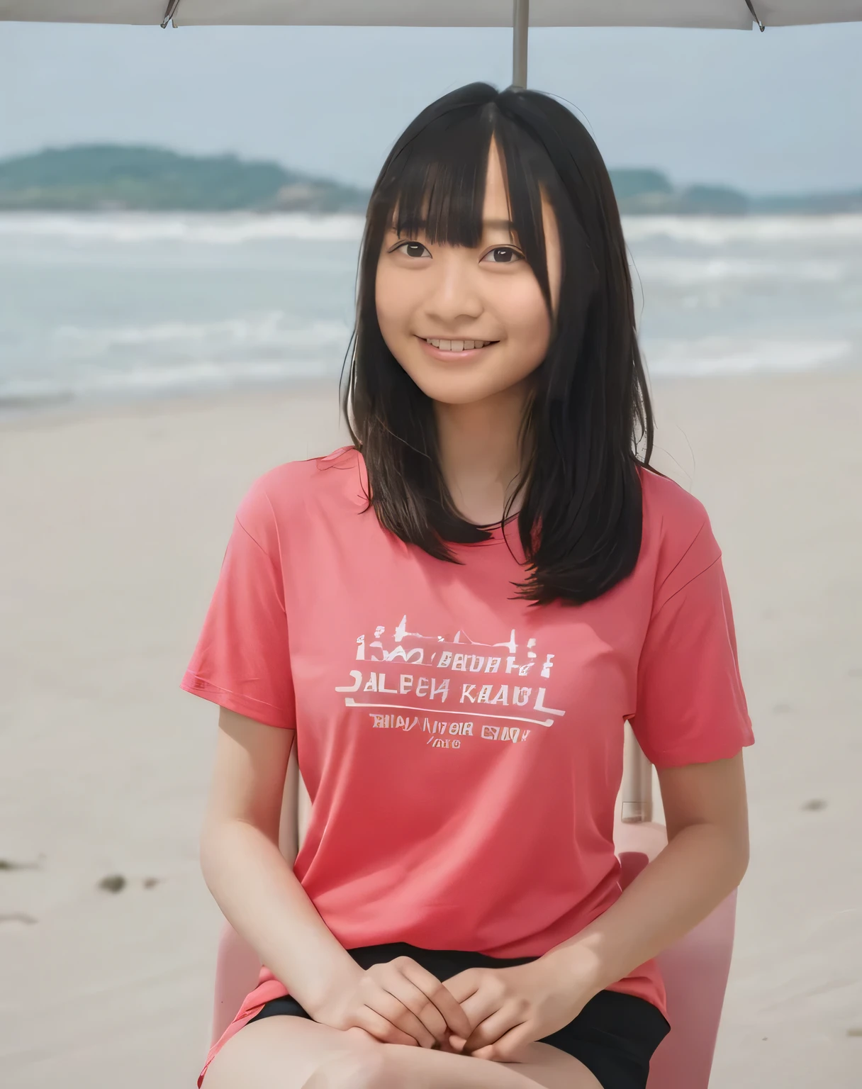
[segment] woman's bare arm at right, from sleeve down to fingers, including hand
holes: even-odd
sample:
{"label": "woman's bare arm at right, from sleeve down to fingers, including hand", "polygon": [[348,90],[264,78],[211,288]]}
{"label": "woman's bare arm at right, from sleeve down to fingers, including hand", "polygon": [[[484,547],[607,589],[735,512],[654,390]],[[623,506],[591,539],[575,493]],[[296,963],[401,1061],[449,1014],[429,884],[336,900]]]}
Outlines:
{"label": "woman's bare arm at right, from sleeve down to fingers, including hand", "polygon": [[660,771],[669,842],[603,915],[537,960],[468,968],[446,987],[476,1026],[451,1038],[480,1059],[519,1062],[525,1044],[577,1016],[705,918],[748,862],[742,755]]}

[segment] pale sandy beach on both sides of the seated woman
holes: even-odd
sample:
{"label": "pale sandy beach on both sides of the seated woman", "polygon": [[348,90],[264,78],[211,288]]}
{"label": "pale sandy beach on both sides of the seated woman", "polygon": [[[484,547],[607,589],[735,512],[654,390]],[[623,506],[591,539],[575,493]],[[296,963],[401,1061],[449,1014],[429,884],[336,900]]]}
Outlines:
{"label": "pale sandy beach on both sides of the seated woman", "polygon": [[[703,500],[724,548],[758,737],[712,1086],[851,1089],[862,374],[664,381],[655,400],[656,464]],[[337,441],[331,389],[0,426],[10,1089],[194,1086],[221,919],[197,858],[216,709],[177,685],[245,489]],[[115,874],[120,891],[100,888]]]}

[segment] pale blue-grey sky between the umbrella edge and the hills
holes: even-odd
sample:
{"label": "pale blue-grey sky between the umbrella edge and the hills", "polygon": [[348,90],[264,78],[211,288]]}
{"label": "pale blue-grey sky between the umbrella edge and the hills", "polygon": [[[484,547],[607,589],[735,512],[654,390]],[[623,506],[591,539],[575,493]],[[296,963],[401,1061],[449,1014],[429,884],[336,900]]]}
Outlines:
{"label": "pale blue-grey sky between the umbrella edge and the hills", "polygon": [[[752,193],[862,188],[862,24],[537,29],[529,63],[609,167]],[[0,23],[0,156],[146,143],[370,185],[423,106],[473,79],[505,86],[510,64],[501,29]]]}

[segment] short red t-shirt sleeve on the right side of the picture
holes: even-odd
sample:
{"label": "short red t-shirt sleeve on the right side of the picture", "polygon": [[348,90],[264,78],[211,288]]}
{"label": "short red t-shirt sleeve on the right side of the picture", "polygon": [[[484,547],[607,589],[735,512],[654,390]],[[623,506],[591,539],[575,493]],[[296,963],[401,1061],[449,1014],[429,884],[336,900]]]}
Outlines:
{"label": "short red t-shirt sleeve on the right side of the picture", "polygon": [[637,692],[631,726],[657,768],[727,759],[754,741],[709,521],[656,591]]}

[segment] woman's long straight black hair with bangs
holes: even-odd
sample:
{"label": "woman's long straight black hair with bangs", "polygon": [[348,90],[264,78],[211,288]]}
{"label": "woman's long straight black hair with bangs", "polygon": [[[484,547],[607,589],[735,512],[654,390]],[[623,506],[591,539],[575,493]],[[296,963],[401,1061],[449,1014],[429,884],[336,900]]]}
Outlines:
{"label": "woman's long straight black hair with bangs", "polygon": [[[515,586],[538,604],[581,604],[637,563],[638,466],[649,464],[653,420],[611,179],[590,134],[555,99],[472,83],[429,106],[396,140],[368,206],[343,409],[381,525],[451,562],[458,562],[451,543],[488,538],[455,509],[440,469],[432,402],[383,340],[374,282],[390,225],[414,236],[422,230],[432,243],[480,245],[492,139],[501,151],[509,218],[552,330],[521,428],[526,469],[516,494],[526,578]],[[556,315],[543,194],[562,243]]]}

